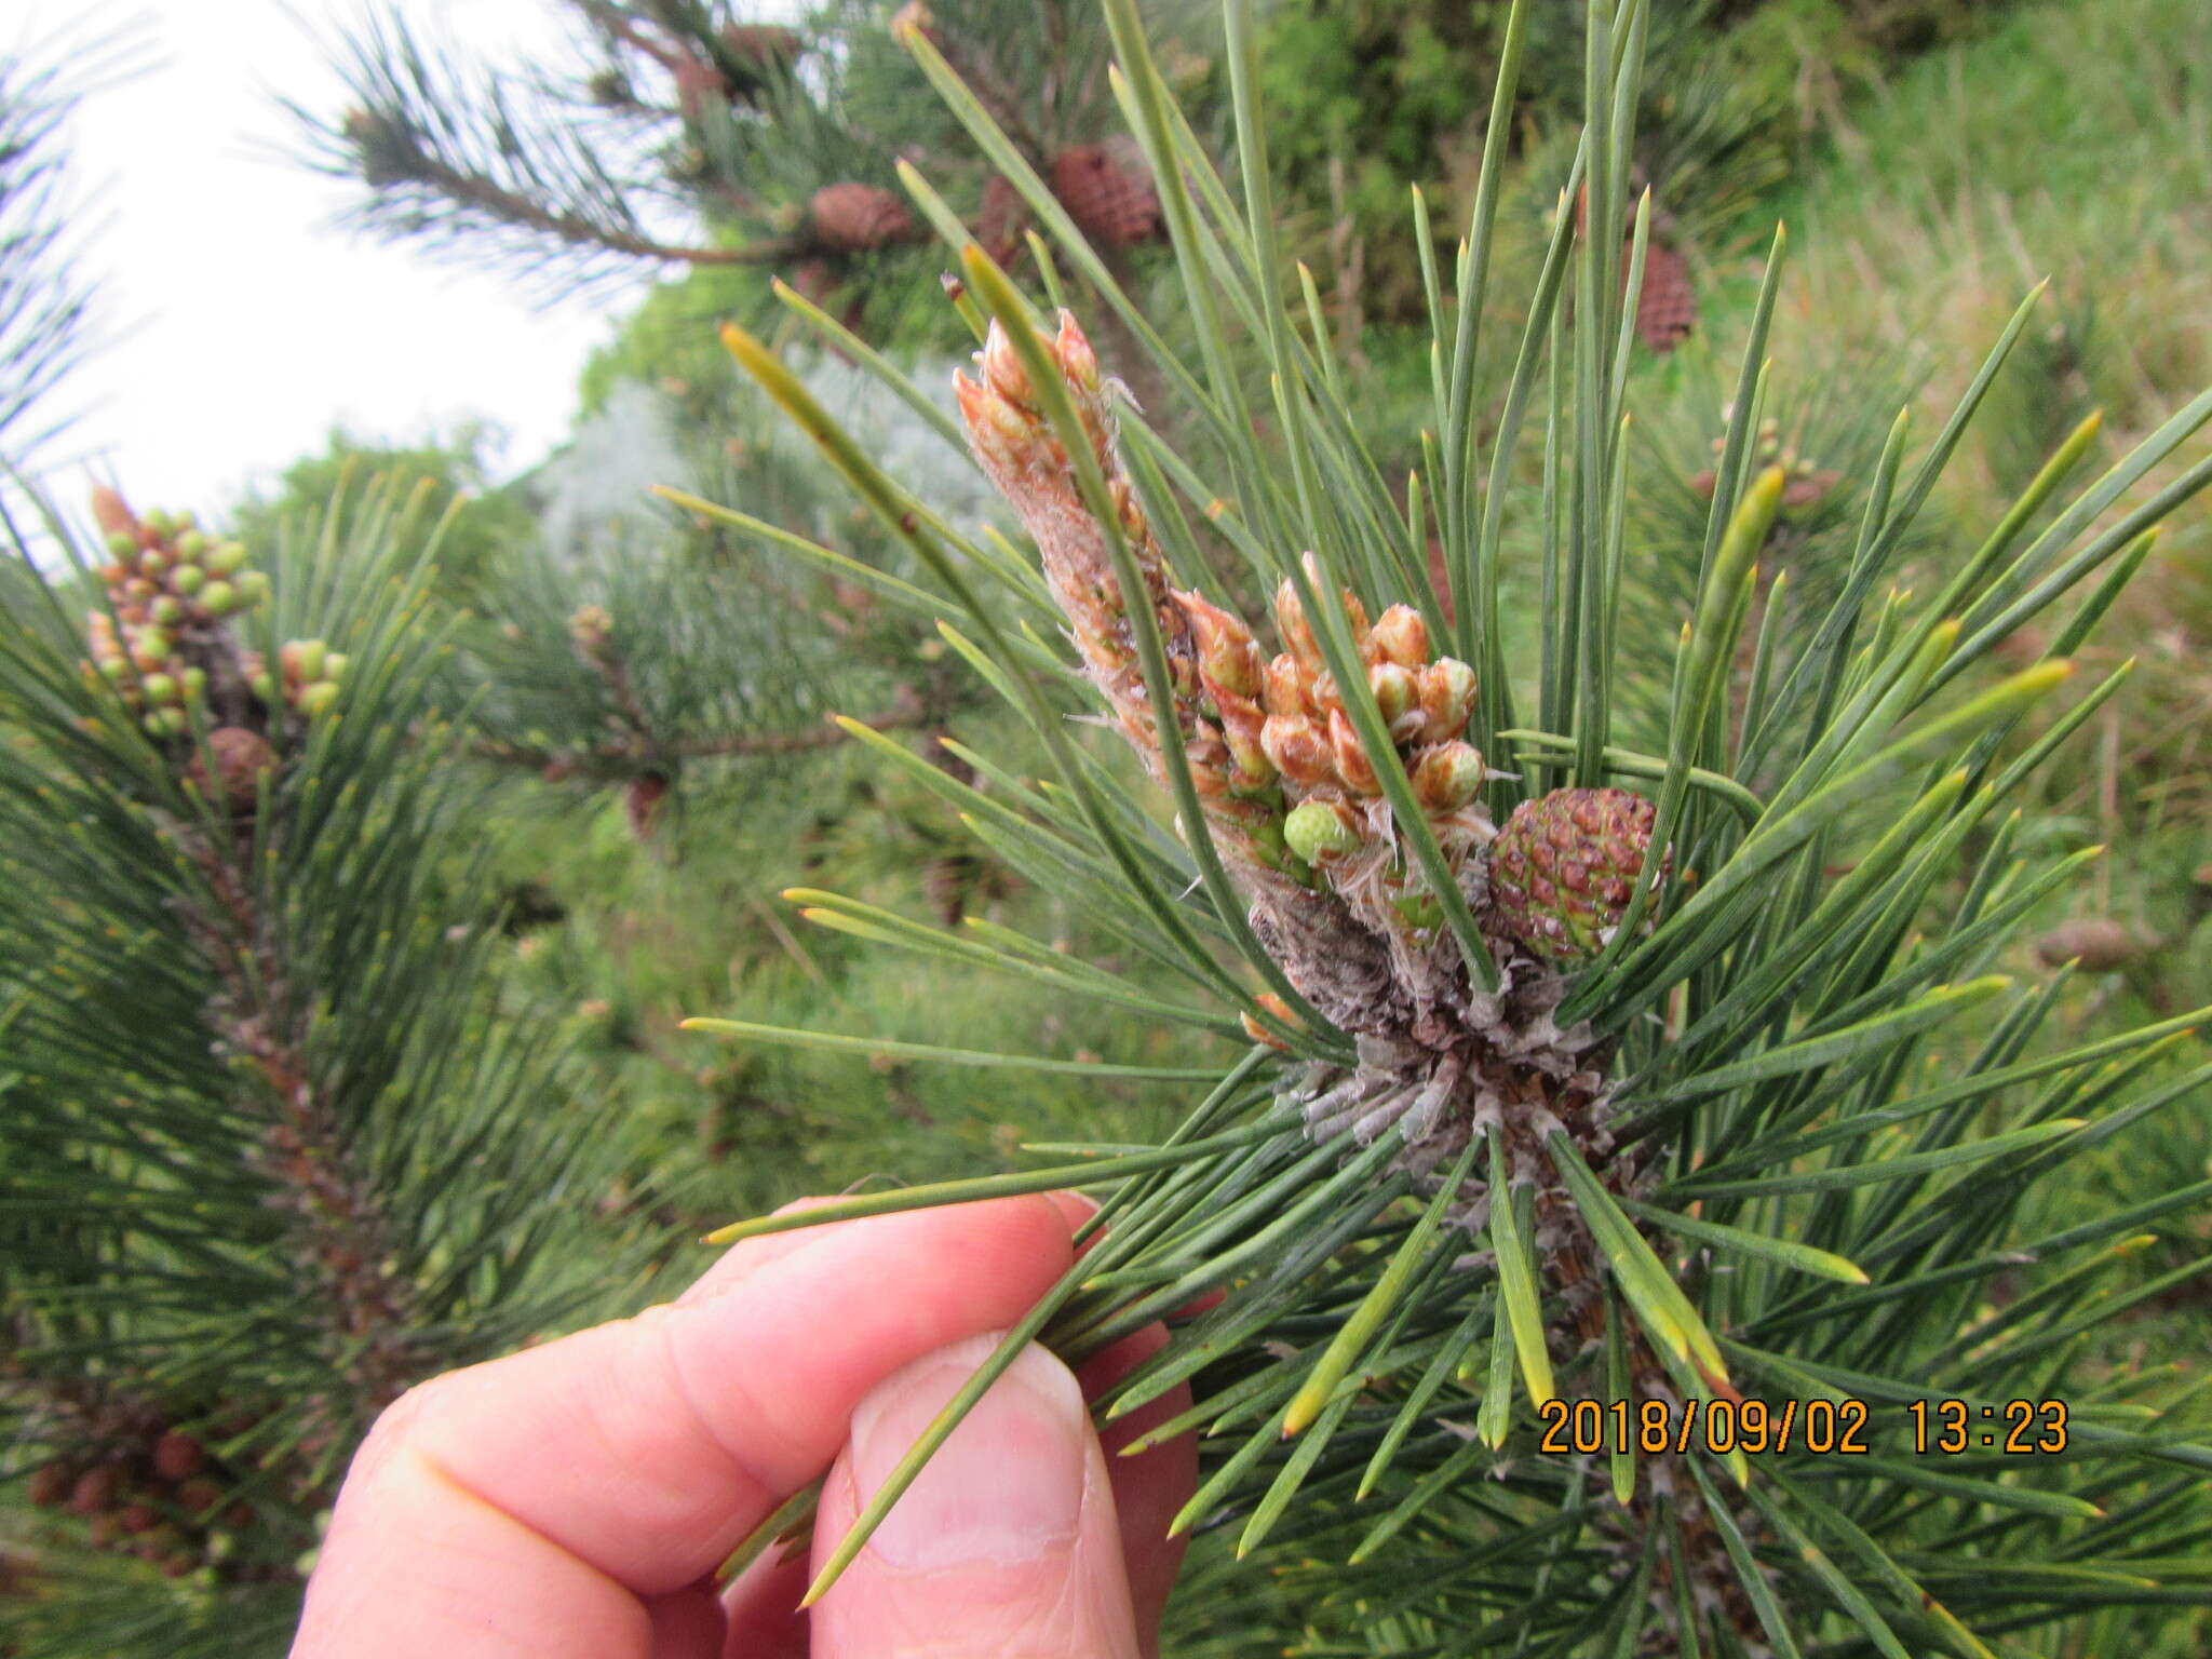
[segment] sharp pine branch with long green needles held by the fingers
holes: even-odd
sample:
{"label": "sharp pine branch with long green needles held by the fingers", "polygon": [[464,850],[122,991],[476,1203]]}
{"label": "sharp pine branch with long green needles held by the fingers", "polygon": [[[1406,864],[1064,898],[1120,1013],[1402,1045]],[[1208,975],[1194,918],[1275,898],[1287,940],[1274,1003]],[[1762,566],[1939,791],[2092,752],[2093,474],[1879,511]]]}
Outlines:
{"label": "sharp pine branch with long green needles held by the fingers", "polygon": [[[1152,1431],[1208,1436],[1177,1526],[1237,1555],[1265,1546],[1276,1568],[1261,1590],[1250,1564],[1203,1564],[1190,1652],[1250,1650],[1254,1608],[1296,1626],[1270,1650],[1898,1659],[1991,1655],[2093,1617],[2095,1650],[2117,1650],[2128,1628],[2197,1617],[2212,1444],[2190,1387],[2121,1334],[2208,1265],[2177,1225],[2212,1181],[2124,1212],[2053,1203],[2101,1148],[2203,1097],[2194,1031],[2212,1011],[2068,1044],[2048,1035],[2066,971],[2020,984],[1993,967],[2095,856],[2042,852],[2017,799],[2126,681],[2079,690],[2070,657],[2152,557],[2159,520],[2212,484],[2212,458],[2168,467],[2212,392],[2088,482],[2099,434],[2084,422],[1931,588],[1885,588],[2031,294],[1933,440],[1889,425],[1834,595],[1807,626],[1747,641],[1790,484],[1759,456],[1778,232],[1694,597],[1637,721],[1619,628],[1637,568],[1624,394],[1650,250],[1626,131],[1644,0],[1588,7],[1586,126],[1522,303],[1486,285],[1533,7],[1513,9],[1467,234],[1449,272],[1425,272],[1436,409],[1405,511],[1312,283],[1285,292],[1250,7],[1228,7],[1234,184],[1175,108],[1133,0],[1104,11],[1194,361],[1164,349],[987,104],[909,40],[1183,420],[1166,442],[1161,411],[1115,389],[1108,367],[1128,365],[1102,365],[1073,314],[940,226],[982,345],[960,380],[964,438],[1042,582],[916,513],[768,347],[726,338],[931,573],[945,639],[1053,776],[978,792],[876,748],[1186,991],[1139,993],[1004,929],[947,940],[825,894],[810,914],[1071,995],[1141,998],[1155,1020],[1234,1015],[1250,1046],[1157,1146],[1060,1148],[1053,1168],[721,1234],[1055,1186],[1104,1206],[1091,1250],[823,1582],[1020,1345],[1082,1358],[1166,1318],[1170,1343],[1102,1409],[1194,1380],[1197,1405]],[[1416,217],[1427,248],[1418,197]],[[1630,219],[1626,250],[1577,234]],[[1057,299],[1057,270],[1042,274]],[[1484,425],[1489,327],[1517,327],[1517,349]],[[1267,367],[1263,400],[1243,354]],[[872,367],[885,396],[918,396]],[[1502,604],[1509,568],[1537,606]],[[2000,641],[2053,611],[2046,650],[1995,672]],[[1172,834],[1075,712],[1135,748]],[[2146,1250],[2172,1265],[2130,1274]],[[2008,1455],[2006,1438],[2042,1455]]]}

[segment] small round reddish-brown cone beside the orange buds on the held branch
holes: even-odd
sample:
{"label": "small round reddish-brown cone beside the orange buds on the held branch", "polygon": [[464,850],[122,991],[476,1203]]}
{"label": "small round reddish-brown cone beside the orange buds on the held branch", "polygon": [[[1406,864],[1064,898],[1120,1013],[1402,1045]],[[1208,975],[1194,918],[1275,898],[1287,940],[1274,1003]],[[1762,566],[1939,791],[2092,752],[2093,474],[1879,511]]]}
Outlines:
{"label": "small round reddish-brown cone beside the orange buds on the held branch", "polygon": [[1491,902],[1537,956],[1586,962],[1628,909],[1657,807],[1628,790],[1522,801],[1491,843]]}

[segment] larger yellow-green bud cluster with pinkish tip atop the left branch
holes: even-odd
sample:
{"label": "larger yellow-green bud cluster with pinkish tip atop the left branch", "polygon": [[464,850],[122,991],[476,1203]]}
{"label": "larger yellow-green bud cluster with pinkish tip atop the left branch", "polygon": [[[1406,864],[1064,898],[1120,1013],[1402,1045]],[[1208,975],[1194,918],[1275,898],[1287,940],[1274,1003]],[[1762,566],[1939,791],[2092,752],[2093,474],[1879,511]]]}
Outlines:
{"label": "larger yellow-green bud cluster with pinkish tip atop the left branch", "polygon": [[208,646],[223,619],[270,593],[243,542],[210,540],[190,513],[133,513],[113,489],[93,491],[104,538],[108,606],[86,615],[88,677],[115,686],[150,737],[181,737],[208,695]]}

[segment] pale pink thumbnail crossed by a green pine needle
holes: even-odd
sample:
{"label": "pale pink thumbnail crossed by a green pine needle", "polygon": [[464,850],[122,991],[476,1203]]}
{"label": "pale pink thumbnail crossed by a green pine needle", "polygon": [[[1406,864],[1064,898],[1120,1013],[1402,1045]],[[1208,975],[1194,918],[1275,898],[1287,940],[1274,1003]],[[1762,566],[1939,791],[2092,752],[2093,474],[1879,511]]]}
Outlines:
{"label": "pale pink thumbnail crossed by a green pine needle", "polygon": [[[852,1471],[863,1504],[998,1343],[973,1336],[925,1354],[860,1402]],[[1064,1553],[1082,1520],[1088,1433],[1068,1367],[1042,1347],[1024,1349],[891,1506],[869,1551],[907,1571]]]}

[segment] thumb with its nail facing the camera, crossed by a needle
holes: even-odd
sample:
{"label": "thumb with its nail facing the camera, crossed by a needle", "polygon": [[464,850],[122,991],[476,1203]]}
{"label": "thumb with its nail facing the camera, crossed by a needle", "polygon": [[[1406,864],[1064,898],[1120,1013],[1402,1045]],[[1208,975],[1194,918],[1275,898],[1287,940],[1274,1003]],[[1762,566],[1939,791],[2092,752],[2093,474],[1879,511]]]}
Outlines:
{"label": "thumb with its nail facing the camera, crossed by a needle", "polygon": [[[998,1347],[971,1336],[860,1402],[823,1486],[816,1568]],[[1026,1347],[814,1608],[814,1659],[1137,1659],[1106,1455],[1075,1376]]]}

